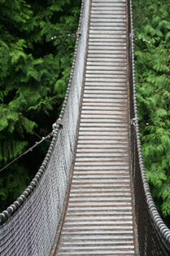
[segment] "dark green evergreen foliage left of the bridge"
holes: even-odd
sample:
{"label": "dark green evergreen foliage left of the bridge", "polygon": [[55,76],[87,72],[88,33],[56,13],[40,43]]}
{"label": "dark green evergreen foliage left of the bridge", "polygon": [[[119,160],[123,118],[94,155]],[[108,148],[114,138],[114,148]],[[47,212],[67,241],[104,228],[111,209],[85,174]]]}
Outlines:
{"label": "dark green evergreen foliage left of the bridge", "polygon": [[[0,0],[0,169],[50,134],[68,86],[81,0]],[[55,38],[56,37],[56,38]],[[0,212],[41,166],[50,139],[0,172]]]}

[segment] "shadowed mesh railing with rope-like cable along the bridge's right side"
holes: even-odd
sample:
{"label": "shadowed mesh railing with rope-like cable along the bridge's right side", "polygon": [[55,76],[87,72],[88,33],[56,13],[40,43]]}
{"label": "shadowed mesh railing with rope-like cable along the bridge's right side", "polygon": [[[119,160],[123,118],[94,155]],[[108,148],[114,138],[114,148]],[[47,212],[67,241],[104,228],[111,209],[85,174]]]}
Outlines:
{"label": "shadowed mesh railing with rope-like cable along the bridge's right side", "polygon": [[131,164],[139,254],[144,256],[170,255],[170,230],[155,208],[146,180],[137,120],[137,97],[134,79],[132,2],[129,9],[129,90],[131,115]]}

